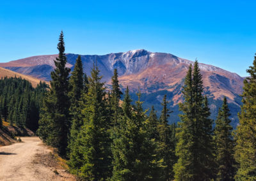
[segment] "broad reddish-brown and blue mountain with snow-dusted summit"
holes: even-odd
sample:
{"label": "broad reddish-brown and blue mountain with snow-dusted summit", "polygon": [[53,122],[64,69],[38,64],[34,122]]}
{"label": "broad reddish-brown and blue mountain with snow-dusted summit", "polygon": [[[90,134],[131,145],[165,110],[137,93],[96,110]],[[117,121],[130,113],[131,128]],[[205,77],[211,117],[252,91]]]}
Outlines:
{"label": "broad reddish-brown and blue mountain with snow-dusted summit", "polygon": [[[6,63],[0,63],[1,67],[17,71],[25,75],[31,75],[44,80],[51,80],[51,71],[54,69],[54,59],[57,55],[41,55],[19,59]],[[77,54],[67,54],[67,66],[73,68]],[[138,87],[142,92],[144,107],[156,107],[161,112],[161,101],[167,94],[173,122],[179,120],[178,103],[182,102],[182,85],[189,64],[193,61],[182,59],[172,54],[153,53],[147,50],[131,50],[124,53],[112,53],[107,55],[81,55],[84,71],[90,75],[93,63],[97,59],[103,81],[107,86],[111,85],[113,69],[118,70],[120,85],[124,89],[129,85],[132,98],[136,99]],[[216,66],[200,63],[200,69],[204,79],[205,94],[211,104],[212,119],[216,119],[216,113],[221,106],[223,96],[228,98],[232,113],[232,124],[237,125],[237,112],[240,110],[243,91],[243,80],[236,73],[230,73]]]}

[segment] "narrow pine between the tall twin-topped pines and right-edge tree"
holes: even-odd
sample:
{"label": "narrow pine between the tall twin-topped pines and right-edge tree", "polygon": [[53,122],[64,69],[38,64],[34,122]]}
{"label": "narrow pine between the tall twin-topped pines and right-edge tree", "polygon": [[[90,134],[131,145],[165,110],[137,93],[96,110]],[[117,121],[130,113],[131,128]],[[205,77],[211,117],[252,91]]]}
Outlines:
{"label": "narrow pine between the tall twin-topped pines and right-edge tree", "polygon": [[224,97],[223,105],[218,112],[214,141],[216,144],[217,180],[234,180],[234,140],[227,98]]}

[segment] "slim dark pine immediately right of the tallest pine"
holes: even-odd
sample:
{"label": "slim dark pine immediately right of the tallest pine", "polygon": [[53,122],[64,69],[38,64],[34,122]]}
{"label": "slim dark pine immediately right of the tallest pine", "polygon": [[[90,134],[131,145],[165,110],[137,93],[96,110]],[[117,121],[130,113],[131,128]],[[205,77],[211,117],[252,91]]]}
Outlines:
{"label": "slim dark pine immediately right of the tallest pine", "polygon": [[83,122],[81,121],[81,96],[84,91],[84,79],[83,79],[83,64],[81,56],[78,55],[76,64],[72,75],[70,76],[70,115],[71,115],[71,129],[68,143],[68,150],[72,152],[74,148],[74,142],[76,141],[77,134],[79,133]]}

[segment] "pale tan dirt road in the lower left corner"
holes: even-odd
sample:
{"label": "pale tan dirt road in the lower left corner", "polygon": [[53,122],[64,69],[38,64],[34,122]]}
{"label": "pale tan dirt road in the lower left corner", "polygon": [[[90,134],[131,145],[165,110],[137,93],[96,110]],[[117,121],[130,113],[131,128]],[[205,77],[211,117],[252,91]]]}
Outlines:
{"label": "pale tan dirt road in the lower left corner", "polygon": [[42,164],[51,152],[38,137],[0,147],[0,180],[74,180],[65,170]]}

